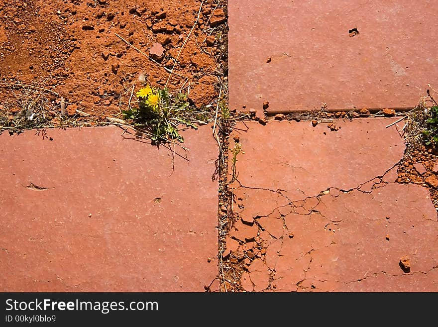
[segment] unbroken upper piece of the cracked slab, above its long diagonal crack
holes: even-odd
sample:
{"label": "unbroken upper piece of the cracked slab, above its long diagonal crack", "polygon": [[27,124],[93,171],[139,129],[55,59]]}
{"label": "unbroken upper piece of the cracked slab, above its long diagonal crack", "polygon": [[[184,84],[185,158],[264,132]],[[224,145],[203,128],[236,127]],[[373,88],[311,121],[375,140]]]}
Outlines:
{"label": "unbroken upper piece of the cracked slab, above its long diagonal crack", "polygon": [[[331,131],[327,123],[313,127],[310,121],[246,123],[247,132],[236,131],[231,136],[239,136],[245,152],[237,157],[238,182],[245,187],[237,196],[247,198],[240,193],[249,193],[251,188],[271,190],[270,202],[281,206],[284,199],[304,200],[329,188],[347,191],[382,177],[405,151],[397,126],[385,128],[395,120],[335,119],[341,127],[338,131]],[[244,128],[243,124],[238,128]],[[263,192],[254,194],[259,199]],[[263,208],[266,204],[261,199],[254,206],[256,211],[251,206],[243,213],[261,216],[276,208]]]}

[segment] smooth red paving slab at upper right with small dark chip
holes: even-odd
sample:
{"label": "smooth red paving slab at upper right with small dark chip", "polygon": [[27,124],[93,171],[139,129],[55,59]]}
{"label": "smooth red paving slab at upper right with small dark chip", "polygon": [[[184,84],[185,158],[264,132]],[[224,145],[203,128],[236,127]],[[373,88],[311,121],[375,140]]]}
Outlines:
{"label": "smooth red paving slab at upper right with small dark chip", "polygon": [[229,1],[230,107],[415,107],[438,76],[425,12],[438,14],[434,1]]}

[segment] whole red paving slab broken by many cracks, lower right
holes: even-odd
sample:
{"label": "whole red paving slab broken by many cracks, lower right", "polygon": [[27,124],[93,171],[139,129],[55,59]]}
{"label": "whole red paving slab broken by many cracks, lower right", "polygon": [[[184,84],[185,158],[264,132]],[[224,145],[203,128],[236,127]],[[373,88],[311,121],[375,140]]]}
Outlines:
{"label": "whole red paving slab broken by many cracks, lower right", "polygon": [[438,291],[437,212],[427,188],[395,182],[405,144],[397,126],[385,128],[394,121],[233,132],[244,153],[226,251],[252,252],[246,291]]}

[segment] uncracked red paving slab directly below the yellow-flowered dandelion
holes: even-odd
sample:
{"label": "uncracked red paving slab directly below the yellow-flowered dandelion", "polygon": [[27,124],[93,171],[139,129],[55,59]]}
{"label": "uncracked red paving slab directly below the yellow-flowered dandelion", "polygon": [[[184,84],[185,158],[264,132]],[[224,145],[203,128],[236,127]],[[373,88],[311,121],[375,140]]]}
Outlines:
{"label": "uncracked red paving slab directly below the yellow-flowered dandelion", "polygon": [[[115,127],[0,135],[1,291],[205,291],[218,268],[217,146]],[[209,260],[211,258],[211,260]],[[210,262],[209,262],[210,261]]]}

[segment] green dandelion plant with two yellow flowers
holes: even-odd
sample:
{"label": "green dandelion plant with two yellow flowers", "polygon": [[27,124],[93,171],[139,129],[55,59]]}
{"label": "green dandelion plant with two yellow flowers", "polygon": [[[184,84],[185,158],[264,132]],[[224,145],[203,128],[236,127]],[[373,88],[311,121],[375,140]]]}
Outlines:
{"label": "green dandelion plant with two yellow flowers", "polygon": [[186,94],[178,93],[174,96],[167,88],[154,89],[147,85],[140,89],[136,96],[138,107],[123,110],[123,116],[125,119],[131,119],[135,127],[146,130],[155,144],[184,142],[184,138],[178,132],[180,123],[197,128],[192,122],[194,112]]}

